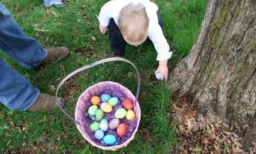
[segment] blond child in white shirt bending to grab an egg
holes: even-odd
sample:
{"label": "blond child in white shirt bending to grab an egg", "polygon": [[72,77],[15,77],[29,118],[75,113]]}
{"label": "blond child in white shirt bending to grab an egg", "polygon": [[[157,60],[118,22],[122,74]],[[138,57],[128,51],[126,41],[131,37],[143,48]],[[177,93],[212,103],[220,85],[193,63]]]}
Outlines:
{"label": "blond child in white shirt bending to grab an egg", "polygon": [[161,79],[167,80],[167,61],[172,52],[162,32],[157,10],[157,5],[149,0],[109,1],[101,8],[99,28],[105,34],[108,27],[114,57],[122,57],[127,43],[138,46],[149,38],[158,53],[159,67],[155,74],[161,73]]}

